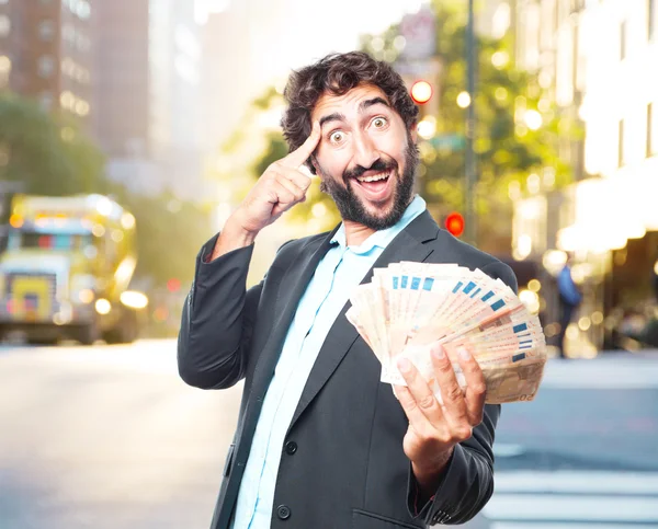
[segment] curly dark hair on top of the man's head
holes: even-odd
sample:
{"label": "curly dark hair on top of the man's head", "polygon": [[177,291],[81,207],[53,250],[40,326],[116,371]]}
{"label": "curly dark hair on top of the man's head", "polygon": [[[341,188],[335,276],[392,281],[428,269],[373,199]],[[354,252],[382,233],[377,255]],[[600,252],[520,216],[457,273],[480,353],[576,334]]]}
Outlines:
{"label": "curly dark hair on top of the man's head", "polygon": [[[314,65],[293,71],[283,93],[287,108],[281,119],[290,151],[297,149],[310,134],[310,114],[325,92],[343,95],[360,84],[373,84],[388,97],[407,130],[418,119],[418,106],[405,81],[388,62],[375,60],[363,51],[331,54]],[[315,174],[310,161],[306,164]]]}

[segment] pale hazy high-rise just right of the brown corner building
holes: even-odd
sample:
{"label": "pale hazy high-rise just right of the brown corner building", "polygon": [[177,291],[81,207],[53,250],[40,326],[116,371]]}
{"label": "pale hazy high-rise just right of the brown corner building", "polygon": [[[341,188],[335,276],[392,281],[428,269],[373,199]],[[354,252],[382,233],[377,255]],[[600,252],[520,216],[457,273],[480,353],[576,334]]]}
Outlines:
{"label": "pale hazy high-rise just right of the brown corner building", "polygon": [[201,26],[189,0],[97,0],[94,131],[133,192],[202,199]]}

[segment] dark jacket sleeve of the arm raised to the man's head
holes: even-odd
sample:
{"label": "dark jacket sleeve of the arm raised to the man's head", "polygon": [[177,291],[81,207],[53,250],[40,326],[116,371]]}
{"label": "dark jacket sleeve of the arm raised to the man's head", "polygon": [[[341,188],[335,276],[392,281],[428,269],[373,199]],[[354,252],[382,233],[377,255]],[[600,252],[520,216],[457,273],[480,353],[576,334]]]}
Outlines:
{"label": "dark jacket sleeve of the arm raised to the man's head", "polygon": [[263,285],[246,288],[253,245],[206,262],[217,237],[196,256],[178,338],[179,373],[202,389],[230,388],[245,377]]}

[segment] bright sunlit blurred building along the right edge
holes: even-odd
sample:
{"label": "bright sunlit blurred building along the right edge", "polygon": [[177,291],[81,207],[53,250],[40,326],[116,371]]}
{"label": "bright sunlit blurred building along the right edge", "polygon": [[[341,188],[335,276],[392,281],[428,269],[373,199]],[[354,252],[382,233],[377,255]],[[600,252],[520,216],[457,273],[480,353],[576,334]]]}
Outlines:
{"label": "bright sunlit blurred building along the right edge", "polygon": [[[650,298],[658,250],[657,4],[515,4],[518,65],[538,74],[560,116],[580,123],[585,137],[559,146],[575,184],[560,192],[538,185],[518,202],[513,250],[553,269],[560,252],[575,255],[586,294],[569,330],[579,350],[617,346],[620,320]],[[544,173],[542,184],[552,169]]]}

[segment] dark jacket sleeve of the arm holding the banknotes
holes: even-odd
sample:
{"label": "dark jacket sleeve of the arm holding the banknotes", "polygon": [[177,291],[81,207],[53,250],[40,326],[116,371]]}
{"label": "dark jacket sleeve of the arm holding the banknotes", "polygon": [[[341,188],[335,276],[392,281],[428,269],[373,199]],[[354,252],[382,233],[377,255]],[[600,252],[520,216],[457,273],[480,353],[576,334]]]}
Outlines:
{"label": "dark jacket sleeve of the arm holding the banknotes", "polygon": [[[496,261],[481,269],[518,291],[517,277],[504,263]],[[428,526],[457,525],[483,509],[494,494],[494,438],[500,411],[500,404],[485,405],[483,422],[468,440],[455,446],[435,494],[424,505],[417,505],[420,494],[409,464],[407,505],[413,518]]]}

